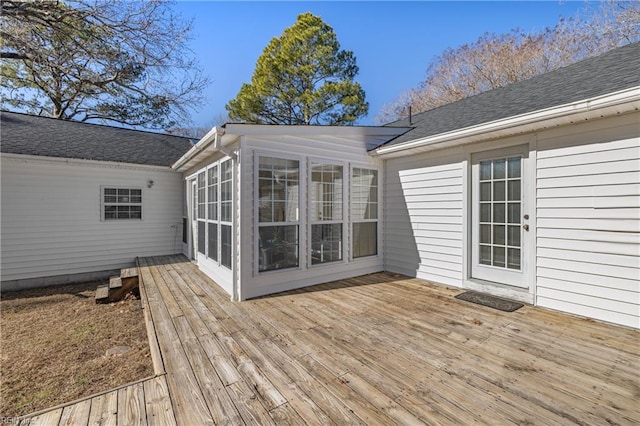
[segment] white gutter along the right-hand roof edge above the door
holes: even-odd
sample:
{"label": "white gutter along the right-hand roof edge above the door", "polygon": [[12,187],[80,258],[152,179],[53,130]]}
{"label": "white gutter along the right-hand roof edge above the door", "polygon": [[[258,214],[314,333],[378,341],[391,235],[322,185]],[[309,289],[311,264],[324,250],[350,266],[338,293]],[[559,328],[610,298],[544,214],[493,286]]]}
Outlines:
{"label": "white gutter along the right-hand roof edge above the door", "polygon": [[[552,108],[533,111],[521,115],[508,117],[488,123],[482,123],[475,126],[466,127],[459,130],[453,130],[451,132],[440,133],[426,138],[417,139],[401,143],[398,145],[391,145],[387,147],[380,147],[373,153],[382,156],[385,154],[397,153],[399,151],[409,150],[412,148],[433,147],[445,144],[446,142],[452,142],[459,139],[471,138],[474,136],[480,136],[484,134],[490,134],[492,132],[504,131],[509,129],[515,129],[520,126],[531,125],[535,123],[551,121],[559,118],[566,118],[576,114],[584,114],[593,112],[595,110],[615,107],[618,105],[628,104],[632,102],[640,102],[640,86],[636,86],[630,89],[621,90],[619,92],[610,93],[607,95],[598,96],[578,102],[572,102]],[[638,105],[635,106],[635,110],[638,110]],[[632,108],[633,110],[634,108]]]}

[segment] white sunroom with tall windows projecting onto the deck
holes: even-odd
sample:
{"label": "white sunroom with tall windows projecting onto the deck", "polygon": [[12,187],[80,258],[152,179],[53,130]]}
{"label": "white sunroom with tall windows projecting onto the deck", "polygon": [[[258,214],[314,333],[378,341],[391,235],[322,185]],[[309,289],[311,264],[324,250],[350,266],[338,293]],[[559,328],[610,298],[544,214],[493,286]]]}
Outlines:
{"label": "white sunroom with tall windows projecting onto the deck", "polygon": [[227,124],[184,174],[183,250],[234,300],[383,270],[382,162],[407,128]]}

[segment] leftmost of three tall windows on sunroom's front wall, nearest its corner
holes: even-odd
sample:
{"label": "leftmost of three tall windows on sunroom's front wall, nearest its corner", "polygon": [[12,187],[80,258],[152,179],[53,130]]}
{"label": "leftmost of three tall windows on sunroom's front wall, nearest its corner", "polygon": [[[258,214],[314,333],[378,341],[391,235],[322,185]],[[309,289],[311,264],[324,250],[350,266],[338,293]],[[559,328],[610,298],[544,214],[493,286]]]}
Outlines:
{"label": "leftmost of three tall windows on sunroom's front wall, nearest its corner", "polygon": [[258,270],[298,266],[300,162],[258,161]]}

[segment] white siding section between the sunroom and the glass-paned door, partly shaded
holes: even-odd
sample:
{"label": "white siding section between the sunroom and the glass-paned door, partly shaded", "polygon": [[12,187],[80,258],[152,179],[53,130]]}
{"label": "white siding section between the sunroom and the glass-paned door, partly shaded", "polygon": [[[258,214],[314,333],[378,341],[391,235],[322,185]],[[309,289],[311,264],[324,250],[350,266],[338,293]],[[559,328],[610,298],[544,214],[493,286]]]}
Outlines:
{"label": "white siding section between the sunroom and the glass-paned door, partly shaded", "polygon": [[463,155],[447,150],[385,162],[385,269],[461,286]]}

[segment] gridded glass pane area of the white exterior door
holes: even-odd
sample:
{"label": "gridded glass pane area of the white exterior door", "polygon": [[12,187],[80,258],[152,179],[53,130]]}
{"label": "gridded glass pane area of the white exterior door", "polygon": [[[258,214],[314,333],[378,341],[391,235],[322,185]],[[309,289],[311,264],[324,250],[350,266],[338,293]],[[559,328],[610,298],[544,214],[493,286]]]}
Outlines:
{"label": "gridded glass pane area of the white exterior door", "polygon": [[480,162],[479,262],[521,269],[522,158]]}

